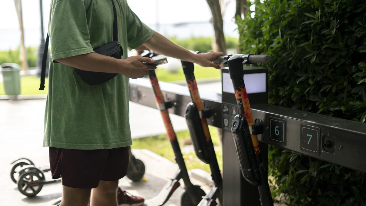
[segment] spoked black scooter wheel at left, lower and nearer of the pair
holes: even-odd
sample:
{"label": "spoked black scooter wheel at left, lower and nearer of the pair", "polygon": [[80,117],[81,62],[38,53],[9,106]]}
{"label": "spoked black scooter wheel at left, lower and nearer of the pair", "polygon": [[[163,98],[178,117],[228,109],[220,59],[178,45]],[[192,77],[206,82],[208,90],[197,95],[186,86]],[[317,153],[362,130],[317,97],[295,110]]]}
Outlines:
{"label": "spoked black scooter wheel at left, lower and nearer of the pair", "polygon": [[17,182],[19,192],[28,197],[36,196],[42,190],[43,185],[38,184],[31,186],[28,183],[37,180],[43,180],[37,172],[27,171],[20,174]]}

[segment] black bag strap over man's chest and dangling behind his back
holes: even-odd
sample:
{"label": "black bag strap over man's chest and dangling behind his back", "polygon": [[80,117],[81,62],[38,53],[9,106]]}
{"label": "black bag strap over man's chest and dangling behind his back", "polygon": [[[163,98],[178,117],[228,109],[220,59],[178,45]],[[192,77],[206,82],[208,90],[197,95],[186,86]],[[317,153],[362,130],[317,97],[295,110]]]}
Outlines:
{"label": "black bag strap over man's chest and dangling behind his back", "polygon": [[[113,41],[118,41],[117,12],[116,12],[116,7],[114,5],[113,0],[111,0],[111,1],[112,1],[112,6],[113,6]],[[44,90],[46,87],[45,86],[45,76],[46,76],[46,61],[47,61],[47,53],[48,53],[48,41],[49,41],[49,36],[47,33],[45,49],[43,51],[43,56],[42,56],[41,84],[40,84],[40,88],[38,90]]]}

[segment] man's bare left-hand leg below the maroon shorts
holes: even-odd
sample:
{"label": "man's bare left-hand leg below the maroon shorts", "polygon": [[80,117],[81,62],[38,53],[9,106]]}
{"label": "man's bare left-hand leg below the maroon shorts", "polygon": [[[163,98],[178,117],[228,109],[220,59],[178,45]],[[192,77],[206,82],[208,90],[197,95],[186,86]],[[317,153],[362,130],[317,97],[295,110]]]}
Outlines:
{"label": "man's bare left-hand leg below the maroon shorts", "polygon": [[60,206],[87,206],[90,199],[90,190],[91,189],[78,189],[63,185]]}

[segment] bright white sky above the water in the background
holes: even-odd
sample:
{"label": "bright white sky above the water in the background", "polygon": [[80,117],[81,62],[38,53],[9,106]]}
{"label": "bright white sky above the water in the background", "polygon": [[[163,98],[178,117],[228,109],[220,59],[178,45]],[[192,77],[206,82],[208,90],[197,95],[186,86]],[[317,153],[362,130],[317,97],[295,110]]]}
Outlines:
{"label": "bright white sky above the water in the background", "polygon": [[[22,0],[23,25],[25,28],[40,28],[39,0]],[[202,22],[211,18],[206,0],[127,0],[132,11],[147,25],[179,22]],[[43,0],[44,23],[48,23],[51,0]],[[158,5],[158,6],[157,6]],[[231,21],[235,14],[235,1],[232,0],[225,12],[224,21]],[[18,29],[13,0],[0,0],[1,29]],[[157,15],[158,14],[158,15]]]}

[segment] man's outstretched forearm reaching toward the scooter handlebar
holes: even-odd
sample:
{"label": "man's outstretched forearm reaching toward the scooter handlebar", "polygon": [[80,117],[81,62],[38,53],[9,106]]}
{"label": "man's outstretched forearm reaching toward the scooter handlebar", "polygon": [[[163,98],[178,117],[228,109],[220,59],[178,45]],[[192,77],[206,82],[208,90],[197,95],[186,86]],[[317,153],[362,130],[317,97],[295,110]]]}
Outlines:
{"label": "man's outstretched forearm reaching toward the scooter handlebar", "polygon": [[195,62],[196,56],[192,52],[173,43],[168,38],[157,32],[155,32],[154,35],[143,45],[164,56],[171,56],[184,61]]}

